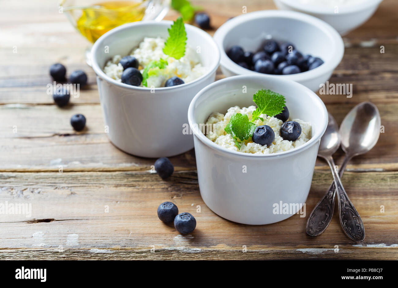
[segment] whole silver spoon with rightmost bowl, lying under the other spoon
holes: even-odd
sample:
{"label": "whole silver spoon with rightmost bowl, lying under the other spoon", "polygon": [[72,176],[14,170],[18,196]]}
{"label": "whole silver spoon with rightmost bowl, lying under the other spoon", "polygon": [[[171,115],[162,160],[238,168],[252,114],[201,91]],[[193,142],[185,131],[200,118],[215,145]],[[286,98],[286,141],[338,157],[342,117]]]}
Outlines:
{"label": "whole silver spoon with rightmost bowl, lying under the other spoon", "polygon": [[[342,138],[341,148],[345,152],[343,164],[339,169],[340,177],[343,175],[347,163],[353,156],[364,154],[375,146],[380,134],[380,125],[381,120],[378,109],[370,102],[360,103],[345,116],[340,127],[340,135]],[[308,217],[306,227],[308,235],[320,235],[326,227],[328,227],[333,216],[335,187],[333,182],[325,196],[316,204],[314,210],[312,210]],[[348,199],[348,197],[345,199],[343,196],[341,196],[341,198],[345,201]],[[345,209],[347,209],[348,206],[343,206],[343,208],[343,213],[345,213]],[[339,205],[339,213],[341,216],[341,205]],[[348,215],[350,215],[350,213],[343,217],[347,217]],[[343,223],[342,226],[344,227]],[[365,232],[363,232],[362,236],[365,237]],[[361,238],[362,237],[358,240],[354,240],[361,241]]]}

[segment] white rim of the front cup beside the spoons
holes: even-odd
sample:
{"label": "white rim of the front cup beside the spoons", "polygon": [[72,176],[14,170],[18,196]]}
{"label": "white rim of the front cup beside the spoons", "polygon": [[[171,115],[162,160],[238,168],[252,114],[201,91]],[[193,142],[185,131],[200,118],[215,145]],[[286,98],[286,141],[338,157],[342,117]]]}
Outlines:
{"label": "white rim of the front cup beside the spoons", "polygon": [[[297,147],[297,148],[293,148],[292,150],[287,150],[287,151],[283,151],[283,152],[278,152],[278,153],[271,153],[271,154],[252,154],[252,153],[244,153],[244,152],[238,152],[238,151],[232,151],[232,150],[228,150],[226,148],[223,148],[220,145],[217,145],[216,143],[214,143],[213,141],[211,141],[209,138],[207,138],[205,136],[205,134],[203,134],[200,130],[199,130],[199,123],[196,123],[195,119],[194,119],[194,115],[195,115],[195,105],[196,102],[199,100],[199,98],[204,94],[207,93],[209,90],[213,89],[213,87],[216,87],[218,85],[224,84],[224,83],[228,83],[228,82],[235,82],[235,81],[245,81],[245,80],[249,80],[250,79],[255,79],[257,78],[258,80],[264,80],[266,79],[267,81],[276,81],[276,82],[283,82],[281,84],[284,85],[293,85],[297,87],[298,91],[304,91],[309,93],[312,101],[318,103],[318,105],[320,105],[320,108],[322,108],[323,113],[325,115],[324,118],[324,122],[322,124],[322,128],[319,131],[316,131],[315,135],[311,137],[310,140],[308,140],[308,142],[302,144],[301,146]],[[188,108],[188,123],[189,123],[189,127],[191,128],[193,134],[195,136],[197,136],[197,138],[205,145],[207,145],[210,148],[213,148],[213,150],[217,150],[219,152],[222,152],[224,154],[232,154],[235,156],[239,156],[239,157],[253,157],[253,158],[266,158],[266,157],[281,157],[281,156],[292,156],[295,155],[297,153],[300,153],[303,150],[306,150],[308,148],[310,148],[310,146],[312,146],[313,144],[315,144],[315,142],[319,141],[320,138],[322,137],[322,135],[324,134],[324,132],[326,131],[326,127],[328,126],[328,110],[326,109],[325,104],[323,103],[323,101],[318,97],[318,95],[316,95],[313,91],[311,91],[309,88],[305,87],[304,85],[301,85],[300,83],[297,83],[295,81],[291,81],[288,79],[276,79],[273,76],[270,75],[236,75],[236,76],[231,76],[231,77],[227,77],[224,79],[221,79],[219,81],[215,81],[213,83],[211,83],[210,85],[207,85],[205,88],[203,88],[201,91],[199,91],[195,97],[193,97],[191,104],[189,104],[189,108]],[[197,124],[197,125],[194,125]],[[312,124],[311,124],[312,126]]]}

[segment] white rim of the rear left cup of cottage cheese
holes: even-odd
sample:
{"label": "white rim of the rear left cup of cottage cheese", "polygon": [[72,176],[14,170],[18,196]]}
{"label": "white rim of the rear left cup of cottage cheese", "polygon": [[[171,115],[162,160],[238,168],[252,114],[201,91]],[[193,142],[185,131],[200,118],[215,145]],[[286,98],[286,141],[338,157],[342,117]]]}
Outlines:
{"label": "white rim of the rear left cup of cottage cheese", "polygon": [[[147,25],[153,25],[156,24],[161,28],[170,28],[170,25],[173,24],[173,21],[170,20],[162,20],[162,21],[155,21],[155,20],[151,20],[151,21],[143,21],[143,22],[133,22],[133,23],[128,23],[128,24],[123,24],[121,26],[118,26],[116,28],[113,28],[112,30],[109,30],[108,32],[106,32],[105,34],[103,34],[100,38],[98,38],[98,40],[94,43],[92,49],[91,49],[91,56],[92,56],[92,68],[94,69],[94,72],[96,73],[96,75],[98,77],[101,77],[103,80],[107,81],[108,83],[114,84],[116,86],[122,87],[122,88],[126,88],[126,89],[133,89],[133,90],[138,90],[138,91],[150,91],[152,88],[151,87],[139,87],[139,86],[133,86],[133,85],[128,85],[125,83],[121,83],[116,81],[115,79],[112,79],[111,77],[109,77],[108,75],[105,74],[105,72],[102,71],[102,69],[100,68],[100,66],[98,65],[94,55],[97,53],[98,50],[100,50],[100,48],[102,49],[102,47],[100,47],[100,43],[103,41],[103,39],[107,38],[108,36],[118,33],[120,31],[123,30],[133,30],[134,28],[139,28],[140,26],[147,26]],[[188,82],[188,83],[184,83],[181,85],[176,85],[176,86],[172,86],[172,87],[156,87],[155,89],[162,89],[162,91],[166,91],[166,90],[173,90],[173,89],[182,89],[185,88],[189,85],[193,85],[196,82],[201,81],[202,79],[208,77],[209,75],[215,73],[215,71],[217,70],[217,68],[219,67],[220,64],[220,51],[219,48],[217,46],[217,44],[215,43],[213,37],[210,36],[210,34],[208,34],[207,32],[201,30],[200,28],[197,28],[195,26],[189,25],[189,24],[184,24],[185,27],[189,27],[189,29],[193,29],[193,31],[197,32],[199,35],[201,35],[201,37],[207,39],[207,41],[209,43],[211,43],[211,45],[214,46],[214,53],[217,53],[217,59],[214,63],[211,64],[211,66],[209,67],[209,70],[203,74],[201,77]],[[131,49],[133,49],[134,47],[131,47]],[[114,56],[114,55],[113,55]],[[110,56],[111,58],[112,56]]]}

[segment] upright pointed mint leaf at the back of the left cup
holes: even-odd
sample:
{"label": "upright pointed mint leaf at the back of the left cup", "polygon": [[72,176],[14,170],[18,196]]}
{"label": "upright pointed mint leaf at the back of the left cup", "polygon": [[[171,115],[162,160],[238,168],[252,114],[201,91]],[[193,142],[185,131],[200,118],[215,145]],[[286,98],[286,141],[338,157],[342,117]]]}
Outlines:
{"label": "upright pointed mint leaf at the back of the left cup", "polygon": [[174,21],[167,31],[169,32],[169,37],[164,44],[163,53],[175,59],[180,59],[185,55],[185,45],[187,41],[187,33],[185,32],[182,18],[179,17]]}

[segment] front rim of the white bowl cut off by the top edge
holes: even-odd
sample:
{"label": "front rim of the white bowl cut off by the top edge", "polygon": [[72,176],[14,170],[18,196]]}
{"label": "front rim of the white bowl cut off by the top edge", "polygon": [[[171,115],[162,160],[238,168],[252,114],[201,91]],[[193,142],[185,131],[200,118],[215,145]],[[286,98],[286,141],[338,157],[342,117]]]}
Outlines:
{"label": "front rim of the white bowl cut off by the top edge", "polygon": [[[286,6],[291,6],[294,9],[299,10],[299,11],[305,11],[308,13],[316,13],[316,14],[324,14],[324,15],[336,15],[336,13],[334,13],[333,7],[329,7],[329,9],[327,9],[328,7],[315,6],[315,5],[311,5],[311,4],[303,4],[300,2],[294,2],[292,0],[274,0],[274,2],[278,2],[278,1],[282,2]],[[358,4],[358,5],[349,5],[349,6],[341,5],[341,6],[339,6],[339,8],[343,8],[343,10],[340,11],[340,9],[339,9],[339,13],[337,15],[355,13],[355,12],[359,12],[362,10],[366,10],[366,9],[371,8],[372,6],[380,4],[382,1],[383,0],[364,0],[363,3]]]}

